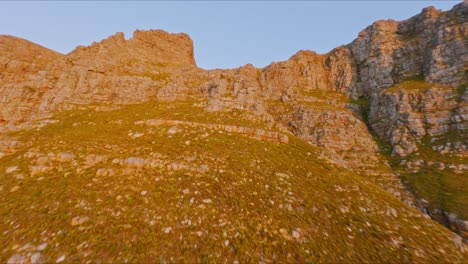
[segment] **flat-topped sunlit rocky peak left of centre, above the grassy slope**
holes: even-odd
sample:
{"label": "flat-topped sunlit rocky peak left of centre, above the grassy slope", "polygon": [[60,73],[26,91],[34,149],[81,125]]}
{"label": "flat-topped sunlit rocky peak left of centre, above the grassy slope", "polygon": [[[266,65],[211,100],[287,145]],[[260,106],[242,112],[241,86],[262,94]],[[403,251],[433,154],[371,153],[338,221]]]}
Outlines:
{"label": "flat-topped sunlit rocky peak left of centre, above the grassy slope", "polygon": [[125,40],[117,33],[89,47],[78,47],[57,65],[69,68],[57,87],[65,98],[56,104],[106,102],[129,104],[157,98],[181,68],[196,67],[192,40],[161,30],[135,31]]}

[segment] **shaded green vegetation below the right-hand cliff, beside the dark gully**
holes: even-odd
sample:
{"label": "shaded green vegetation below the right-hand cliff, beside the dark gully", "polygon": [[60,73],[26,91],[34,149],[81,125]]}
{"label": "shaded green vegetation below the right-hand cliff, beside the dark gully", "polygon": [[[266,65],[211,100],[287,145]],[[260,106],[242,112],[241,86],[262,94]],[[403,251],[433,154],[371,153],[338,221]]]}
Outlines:
{"label": "shaded green vegetation below the right-hand cliff, beside the dark gully", "polygon": [[[417,154],[404,159],[391,156],[390,144],[380,140],[377,143],[380,152],[401,175],[405,187],[417,198],[427,200],[432,209],[444,210],[467,219],[468,179],[463,173],[454,172],[453,166],[468,164],[468,160],[454,154],[441,154],[433,149],[434,146],[461,140],[466,140],[466,137],[456,131],[437,137],[425,136],[418,143]],[[416,161],[421,162],[421,165],[412,170],[402,164],[403,160],[406,164]]]}

